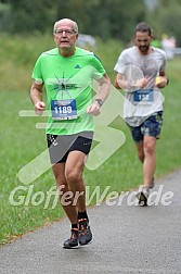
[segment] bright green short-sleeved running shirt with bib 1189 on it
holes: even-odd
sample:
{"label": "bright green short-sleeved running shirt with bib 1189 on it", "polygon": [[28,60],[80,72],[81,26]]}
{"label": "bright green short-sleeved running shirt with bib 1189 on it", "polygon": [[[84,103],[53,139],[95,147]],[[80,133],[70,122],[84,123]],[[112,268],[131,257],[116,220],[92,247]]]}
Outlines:
{"label": "bright green short-sleeved running shirt with bib 1189 on it", "polygon": [[105,74],[101,61],[76,47],[74,55],[64,58],[57,48],[43,52],[31,77],[43,84],[50,111],[47,134],[73,135],[93,130],[93,116],[87,114],[92,100],[92,80]]}

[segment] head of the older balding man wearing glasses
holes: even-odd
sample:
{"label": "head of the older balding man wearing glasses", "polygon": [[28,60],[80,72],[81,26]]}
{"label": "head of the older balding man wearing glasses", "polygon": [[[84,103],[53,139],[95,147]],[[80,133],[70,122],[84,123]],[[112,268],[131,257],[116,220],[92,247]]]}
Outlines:
{"label": "head of the older balding man wearing glasses", "polygon": [[59,49],[72,49],[78,39],[78,34],[69,21],[62,21],[55,26],[54,41]]}

